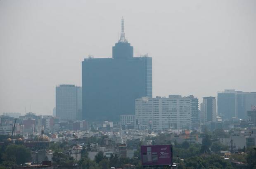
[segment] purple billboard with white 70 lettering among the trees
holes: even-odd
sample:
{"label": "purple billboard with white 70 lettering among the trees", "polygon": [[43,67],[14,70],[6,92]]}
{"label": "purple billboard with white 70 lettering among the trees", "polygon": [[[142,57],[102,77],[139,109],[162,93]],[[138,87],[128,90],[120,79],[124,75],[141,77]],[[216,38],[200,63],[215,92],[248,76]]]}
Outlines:
{"label": "purple billboard with white 70 lettering among the trees", "polygon": [[172,165],[172,145],[141,146],[142,165]]}

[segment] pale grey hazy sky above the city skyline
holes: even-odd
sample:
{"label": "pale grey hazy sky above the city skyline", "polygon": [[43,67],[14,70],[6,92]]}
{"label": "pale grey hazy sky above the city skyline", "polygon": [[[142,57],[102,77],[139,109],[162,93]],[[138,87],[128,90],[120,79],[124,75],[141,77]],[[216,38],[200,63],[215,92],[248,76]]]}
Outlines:
{"label": "pale grey hazy sky above the city skyline", "polygon": [[112,56],[122,16],[153,96],[256,92],[256,0],[0,0],[0,114],[52,114],[56,85]]}

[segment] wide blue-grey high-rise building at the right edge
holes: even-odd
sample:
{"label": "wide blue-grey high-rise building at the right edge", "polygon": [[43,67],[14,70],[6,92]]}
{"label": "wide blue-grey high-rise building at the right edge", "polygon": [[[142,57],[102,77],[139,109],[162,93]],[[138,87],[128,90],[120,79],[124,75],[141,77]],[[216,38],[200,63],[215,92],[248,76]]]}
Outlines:
{"label": "wide blue-grey high-rise building at the right edge", "polygon": [[246,112],[251,110],[251,105],[254,104],[256,104],[256,92],[242,92],[234,89],[218,92],[218,115],[223,119],[246,119]]}

